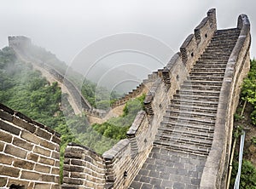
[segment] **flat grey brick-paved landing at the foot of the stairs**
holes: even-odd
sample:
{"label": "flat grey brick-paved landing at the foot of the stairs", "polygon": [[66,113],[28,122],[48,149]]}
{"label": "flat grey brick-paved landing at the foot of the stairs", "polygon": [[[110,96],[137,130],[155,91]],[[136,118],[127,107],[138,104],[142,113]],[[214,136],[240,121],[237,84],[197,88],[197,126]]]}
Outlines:
{"label": "flat grey brick-paved landing at the foot of the stairs", "polygon": [[130,189],[198,188],[207,157],[154,147]]}

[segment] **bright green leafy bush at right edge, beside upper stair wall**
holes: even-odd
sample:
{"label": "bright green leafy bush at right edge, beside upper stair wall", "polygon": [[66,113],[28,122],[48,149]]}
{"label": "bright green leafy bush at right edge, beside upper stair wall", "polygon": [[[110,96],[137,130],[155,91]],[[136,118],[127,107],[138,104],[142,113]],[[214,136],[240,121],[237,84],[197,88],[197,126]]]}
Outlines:
{"label": "bright green leafy bush at right edge, beside upper stair wall", "polygon": [[244,79],[241,90],[242,100],[247,100],[254,107],[251,113],[252,122],[256,125],[256,60],[251,61],[251,69],[248,77]]}

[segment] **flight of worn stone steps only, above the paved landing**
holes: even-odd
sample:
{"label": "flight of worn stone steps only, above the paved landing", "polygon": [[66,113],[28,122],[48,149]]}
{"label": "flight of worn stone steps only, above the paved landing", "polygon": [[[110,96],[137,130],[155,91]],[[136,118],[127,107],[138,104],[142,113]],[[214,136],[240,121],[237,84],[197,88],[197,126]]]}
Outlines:
{"label": "flight of worn stone steps only, above the paved landing", "polygon": [[154,146],[207,156],[212,146],[218,96],[239,30],[218,30],[174,95]]}

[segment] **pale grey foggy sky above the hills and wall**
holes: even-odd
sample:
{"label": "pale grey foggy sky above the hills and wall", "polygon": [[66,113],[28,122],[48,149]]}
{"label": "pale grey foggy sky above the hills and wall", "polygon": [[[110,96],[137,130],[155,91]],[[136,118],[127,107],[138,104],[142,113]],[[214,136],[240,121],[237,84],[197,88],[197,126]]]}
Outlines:
{"label": "pale grey foggy sky above the hills and wall", "polygon": [[[217,9],[218,28],[235,27],[238,15],[247,14],[256,37],[255,4],[253,0],[1,1],[0,47],[7,45],[8,36],[30,37],[96,83],[107,83],[110,89],[120,83],[133,86],[167,63],[208,9]],[[114,36],[120,38],[108,41]],[[252,58],[255,52],[252,43]]]}

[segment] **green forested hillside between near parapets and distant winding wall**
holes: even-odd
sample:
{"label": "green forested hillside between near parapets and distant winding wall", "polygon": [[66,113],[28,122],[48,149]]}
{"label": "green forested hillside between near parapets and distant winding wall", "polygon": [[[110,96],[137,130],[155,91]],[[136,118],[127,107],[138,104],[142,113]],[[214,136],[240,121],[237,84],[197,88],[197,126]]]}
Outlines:
{"label": "green forested hillside between near parapets and distant winding wall", "polygon": [[[95,95],[93,86],[96,84],[86,82],[87,85],[83,86],[84,93]],[[71,106],[68,105],[67,94],[62,96],[61,101],[61,89],[57,83],[49,83],[40,72],[32,69],[32,65],[18,60],[14,50],[9,47],[0,50],[0,89],[1,103],[61,134],[61,166],[68,142],[76,142],[103,153],[118,140],[125,138],[137,112],[143,109],[144,95],[137,100],[128,101],[121,117],[90,126],[86,115],[73,114]],[[101,106],[108,108],[109,100]],[[69,115],[63,115],[64,108],[70,112]]]}

